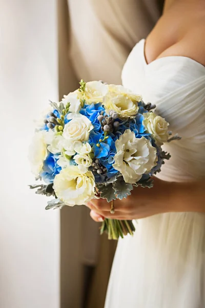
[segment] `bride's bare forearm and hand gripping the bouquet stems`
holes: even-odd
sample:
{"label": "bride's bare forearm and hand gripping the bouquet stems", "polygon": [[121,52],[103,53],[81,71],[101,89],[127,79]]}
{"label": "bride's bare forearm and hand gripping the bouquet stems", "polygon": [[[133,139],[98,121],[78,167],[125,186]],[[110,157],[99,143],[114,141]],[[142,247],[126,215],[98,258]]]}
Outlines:
{"label": "bride's bare forearm and hand gripping the bouquet stems", "polygon": [[113,219],[140,219],[160,213],[196,211],[205,213],[205,189],[202,182],[175,183],[157,178],[153,188],[135,187],[127,199],[115,200],[115,213],[110,214],[111,203],[93,199],[88,206],[91,217],[102,221]]}

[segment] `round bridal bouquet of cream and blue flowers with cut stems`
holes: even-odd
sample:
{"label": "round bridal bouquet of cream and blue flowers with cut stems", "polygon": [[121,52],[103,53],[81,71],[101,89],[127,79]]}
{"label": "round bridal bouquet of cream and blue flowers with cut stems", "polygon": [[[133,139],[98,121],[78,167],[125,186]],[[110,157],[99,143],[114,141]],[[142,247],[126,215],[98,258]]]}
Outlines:
{"label": "round bridal bouquet of cream and blue flowers with cut stems", "polygon": [[[152,176],[170,155],[168,123],[140,95],[119,85],[80,82],[60,103],[50,102],[35,132],[29,158],[37,194],[53,196],[46,209],[113,200],[133,186],[152,187]],[[109,239],[133,234],[132,221],[105,219]]]}

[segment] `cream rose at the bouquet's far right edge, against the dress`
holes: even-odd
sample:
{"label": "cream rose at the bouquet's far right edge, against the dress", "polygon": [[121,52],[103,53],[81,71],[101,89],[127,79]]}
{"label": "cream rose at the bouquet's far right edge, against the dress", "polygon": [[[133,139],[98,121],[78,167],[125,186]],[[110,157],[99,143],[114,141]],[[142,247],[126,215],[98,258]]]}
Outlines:
{"label": "cream rose at the bouquet's far right edge, against the dress", "polygon": [[157,144],[162,145],[167,142],[169,138],[169,123],[154,112],[147,112],[143,115],[145,119],[142,124],[146,127],[149,133],[153,134]]}

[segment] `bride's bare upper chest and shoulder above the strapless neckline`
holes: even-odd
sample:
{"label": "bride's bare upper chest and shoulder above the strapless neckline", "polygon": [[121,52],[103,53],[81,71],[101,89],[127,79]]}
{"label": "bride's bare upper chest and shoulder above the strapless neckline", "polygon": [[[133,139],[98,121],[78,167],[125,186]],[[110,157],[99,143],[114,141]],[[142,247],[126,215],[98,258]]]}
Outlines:
{"label": "bride's bare upper chest and shoulder above the strapless neckline", "polygon": [[166,56],[186,56],[205,66],[205,11],[181,15],[165,13],[146,40],[145,56],[150,63]]}

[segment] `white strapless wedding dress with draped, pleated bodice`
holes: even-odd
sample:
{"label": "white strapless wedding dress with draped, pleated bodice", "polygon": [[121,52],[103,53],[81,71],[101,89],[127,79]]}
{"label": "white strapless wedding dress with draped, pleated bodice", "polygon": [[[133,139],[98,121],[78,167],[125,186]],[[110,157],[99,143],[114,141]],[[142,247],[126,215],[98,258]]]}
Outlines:
{"label": "white strapless wedding dress with draped, pleated bodice", "polygon": [[[182,137],[164,147],[172,157],[158,177],[203,181],[205,67],[184,56],[147,64],[144,46],[141,40],[129,55],[122,83],[156,104],[170,130]],[[118,242],[105,307],[204,308],[205,215],[166,213],[139,220],[134,236]]]}

